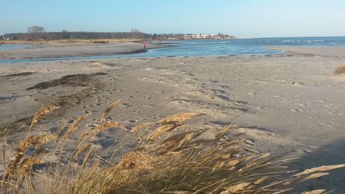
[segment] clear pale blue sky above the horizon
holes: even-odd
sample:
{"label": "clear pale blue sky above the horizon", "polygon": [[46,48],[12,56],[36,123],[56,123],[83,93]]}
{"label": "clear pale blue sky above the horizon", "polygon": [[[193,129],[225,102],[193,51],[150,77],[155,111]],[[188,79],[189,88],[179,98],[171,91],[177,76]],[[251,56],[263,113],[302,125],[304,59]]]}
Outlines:
{"label": "clear pale blue sky above the horizon", "polygon": [[345,0],[0,0],[0,35],[46,31],[345,36]]}

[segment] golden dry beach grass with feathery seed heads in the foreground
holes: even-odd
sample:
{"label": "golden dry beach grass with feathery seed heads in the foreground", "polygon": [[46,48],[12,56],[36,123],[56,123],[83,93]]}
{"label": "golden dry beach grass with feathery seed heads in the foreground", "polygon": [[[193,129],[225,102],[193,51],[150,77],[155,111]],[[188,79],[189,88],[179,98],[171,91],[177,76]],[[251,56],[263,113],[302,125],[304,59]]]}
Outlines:
{"label": "golden dry beach grass with feathery seed heads in the foreground", "polygon": [[[72,151],[71,135],[81,130],[81,115],[57,134],[43,134],[22,139],[2,175],[1,193],[284,193],[299,182],[328,175],[328,171],[345,164],[320,166],[302,172],[286,167],[292,159],[270,153],[250,154],[242,140],[230,135],[233,125],[220,128],[206,138],[205,129],[190,128],[186,122],[198,113],[177,113],[155,123],[126,128],[106,116],[119,104],[114,101],[103,112],[94,128],[83,129]],[[57,107],[43,107],[32,119],[30,129],[39,119]],[[49,111],[43,111],[49,110]],[[193,121],[193,120],[192,120]],[[95,135],[109,128],[126,132],[112,157],[103,158],[92,144]],[[29,129],[28,129],[29,130]],[[55,141],[54,141],[55,140]],[[42,158],[46,144],[50,161]],[[128,144],[130,146],[128,146]],[[127,145],[127,146],[126,146]],[[126,151],[120,159],[119,150]],[[47,154],[47,153],[45,153]],[[38,171],[37,166],[45,166]],[[43,180],[38,188],[37,180]],[[323,193],[324,190],[305,193]]]}

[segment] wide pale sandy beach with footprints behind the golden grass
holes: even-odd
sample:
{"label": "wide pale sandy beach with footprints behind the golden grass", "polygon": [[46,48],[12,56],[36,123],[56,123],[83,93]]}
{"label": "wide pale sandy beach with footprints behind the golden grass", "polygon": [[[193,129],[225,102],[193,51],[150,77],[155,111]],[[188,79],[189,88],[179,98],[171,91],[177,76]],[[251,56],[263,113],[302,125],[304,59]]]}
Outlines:
{"label": "wide pale sandy beach with footprints behind the golden grass", "polygon": [[[54,49],[67,53],[71,48]],[[92,119],[99,118],[111,101],[122,99],[108,119],[129,127],[181,111],[204,113],[189,122],[192,127],[209,128],[208,135],[213,135],[225,124],[237,124],[233,133],[244,133],[240,138],[246,139],[248,151],[299,157],[291,164],[298,170],[343,164],[345,80],[333,71],[345,64],[345,48],[279,49],[286,52],[0,64],[0,128],[6,157],[11,157],[9,151],[26,135],[23,128],[44,102],[58,98],[60,113],[42,119],[32,133],[56,133],[57,123],[70,122],[86,111],[93,114],[84,124],[97,123]],[[36,56],[46,55],[39,53]],[[109,156],[124,134],[110,130],[98,136],[93,144],[99,155]],[[302,186],[345,193],[344,175],[344,170],[334,171]]]}

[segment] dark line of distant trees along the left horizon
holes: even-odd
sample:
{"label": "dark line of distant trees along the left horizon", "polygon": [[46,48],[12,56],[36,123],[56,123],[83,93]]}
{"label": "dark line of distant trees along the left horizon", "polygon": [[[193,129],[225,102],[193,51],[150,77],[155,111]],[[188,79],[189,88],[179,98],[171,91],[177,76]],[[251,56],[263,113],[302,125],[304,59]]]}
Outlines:
{"label": "dark line of distant trees along the left horizon", "polygon": [[[29,27],[30,28],[30,27]],[[23,40],[57,40],[57,39],[148,39],[150,35],[143,32],[37,32],[28,29],[28,33],[11,33],[3,35],[5,39]],[[31,31],[33,30],[33,31]],[[43,28],[44,31],[44,28]]]}

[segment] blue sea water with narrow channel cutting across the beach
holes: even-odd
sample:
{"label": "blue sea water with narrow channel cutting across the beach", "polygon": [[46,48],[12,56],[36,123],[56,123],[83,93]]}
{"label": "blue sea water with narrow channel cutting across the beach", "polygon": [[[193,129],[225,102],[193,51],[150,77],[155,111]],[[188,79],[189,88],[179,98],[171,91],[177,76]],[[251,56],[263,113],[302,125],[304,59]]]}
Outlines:
{"label": "blue sea water with narrow channel cutting across the beach", "polygon": [[[295,37],[262,39],[193,39],[164,42],[167,48],[148,50],[148,52],[130,55],[108,55],[90,57],[61,57],[46,59],[0,59],[0,63],[17,63],[28,61],[57,61],[68,59],[104,59],[118,57],[167,57],[167,56],[201,56],[201,55],[268,55],[280,53],[269,50],[268,46],[345,46],[345,37]],[[1,49],[28,47],[28,45],[6,46]]]}

